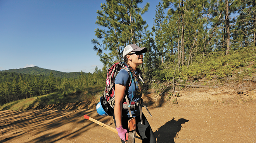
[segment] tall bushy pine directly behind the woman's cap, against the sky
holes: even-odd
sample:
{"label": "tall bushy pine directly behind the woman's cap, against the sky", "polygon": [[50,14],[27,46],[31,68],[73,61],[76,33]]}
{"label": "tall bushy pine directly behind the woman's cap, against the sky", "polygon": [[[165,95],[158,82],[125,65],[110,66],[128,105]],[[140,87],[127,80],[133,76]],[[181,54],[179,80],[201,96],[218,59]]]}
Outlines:
{"label": "tall bushy pine directly behind the woman's cap, against the sky", "polygon": [[[96,29],[95,35],[100,40],[92,39],[94,50],[100,56],[104,66],[110,67],[116,61],[122,61],[123,49],[128,44],[141,44],[146,21],[142,14],[147,12],[149,3],[143,9],[138,7],[142,0],[106,0],[97,11],[96,24],[103,29]],[[109,53],[102,53],[102,51]]]}

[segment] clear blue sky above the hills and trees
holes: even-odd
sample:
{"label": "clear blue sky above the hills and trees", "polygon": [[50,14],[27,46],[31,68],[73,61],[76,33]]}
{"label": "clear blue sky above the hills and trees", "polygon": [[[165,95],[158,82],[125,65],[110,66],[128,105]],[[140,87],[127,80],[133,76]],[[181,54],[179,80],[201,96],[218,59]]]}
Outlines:
{"label": "clear blue sky above the hills and trees", "polygon": [[[38,66],[61,72],[102,68],[91,39],[104,0],[0,0],[0,70]],[[156,5],[144,0],[151,28]]]}

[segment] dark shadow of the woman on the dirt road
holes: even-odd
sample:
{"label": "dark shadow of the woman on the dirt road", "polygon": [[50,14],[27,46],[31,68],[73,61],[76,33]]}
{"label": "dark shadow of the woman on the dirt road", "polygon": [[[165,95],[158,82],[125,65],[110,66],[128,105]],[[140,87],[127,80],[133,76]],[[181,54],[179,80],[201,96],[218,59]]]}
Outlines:
{"label": "dark shadow of the woman on the dirt road", "polygon": [[157,143],[175,143],[174,138],[178,136],[182,124],[189,121],[183,118],[178,119],[178,121],[175,121],[174,119],[175,118],[171,119],[171,121],[168,121],[154,132],[157,138]]}

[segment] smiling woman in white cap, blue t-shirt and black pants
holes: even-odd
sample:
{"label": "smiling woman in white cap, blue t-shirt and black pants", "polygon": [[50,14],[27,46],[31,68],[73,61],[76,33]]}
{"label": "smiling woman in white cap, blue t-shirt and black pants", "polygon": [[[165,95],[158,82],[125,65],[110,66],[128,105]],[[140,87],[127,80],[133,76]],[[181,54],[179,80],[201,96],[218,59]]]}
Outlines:
{"label": "smiling woman in white cap, blue t-shirt and black pants", "polygon": [[138,78],[136,75],[139,74],[139,69],[137,67],[142,64],[142,53],[145,52],[147,52],[147,48],[145,47],[140,48],[135,44],[126,46],[123,56],[126,65],[128,65],[128,68],[133,74],[133,85],[128,86],[130,82],[129,77],[131,77],[131,75],[129,75],[130,73],[124,69],[120,70],[115,79],[114,121],[122,143],[126,141],[125,134],[128,130],[128,120],[133,117],[136,118],[136,132],[142,139],[142,142],[156,143],[156,137],[154,136],[154,133],[143,113],[142,119],[140,118],[139,106],[135,107],[135,109],[131,111],[132,117],[130,117],[128,110],[122,110],[123,103],[126,102],[126,95],[128,95],[129,102],[131,100],[134,102],[140,102],[140,100],[142,100],[143,83],[142,79]]}

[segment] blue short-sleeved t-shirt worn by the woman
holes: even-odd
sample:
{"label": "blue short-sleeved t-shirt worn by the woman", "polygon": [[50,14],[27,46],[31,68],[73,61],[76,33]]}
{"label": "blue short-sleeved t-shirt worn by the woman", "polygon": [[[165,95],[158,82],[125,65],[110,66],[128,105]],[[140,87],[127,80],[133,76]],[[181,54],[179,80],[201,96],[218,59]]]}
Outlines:
{"label": "blue short-sleeved t-shirt worn by the woman", "polygon": [[[136,75],[138,75],[138,72],[135,72]],[[129,102],[131,101],[131,97],[132,97],[132,92],[133,92],[133,101],[138,102],[141,97],[142,97],[142,90],[143,90],[143,83],[140,80],[140,78],[138,78],[139,82],[140,82],[140,87],[141,87],[141,91],[140,88],[138,86],[138,82],[135,80],[135,78],[133,77],[133,83],[131,83],[130,87],[127,88],[129,86],[130,83],[130,72],[128,73],[126,70],[121,69],[118,73],[118,75],[116,75],[115,78],[115,84],[121,84],[126,86],[126,90],[125,90],[125,94],[128,95],[128,100]],[[135,83],[136,82],[136,87],[135,87]],[[132,91],[133,90],[133,91]],[[125,97],[123,102],[126,102]],[[123,117],[130,117],[129,111],[128,110],[123,110],[122,111],[122,115]],[[135,110],[131,110],[131,115],[132,116],[139,116],[140,115],[140,111],[139,109],[135,109]]]}

